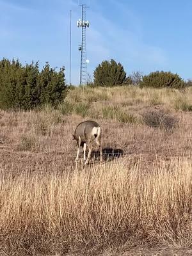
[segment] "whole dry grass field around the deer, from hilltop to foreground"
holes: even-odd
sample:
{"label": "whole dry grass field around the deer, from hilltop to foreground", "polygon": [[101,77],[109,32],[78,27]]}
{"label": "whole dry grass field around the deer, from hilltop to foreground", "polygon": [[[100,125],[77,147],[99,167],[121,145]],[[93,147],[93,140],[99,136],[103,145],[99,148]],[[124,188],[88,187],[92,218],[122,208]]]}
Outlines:
{"label": "whole dry grass field around the deer, from hilltop to foreground", "polygon": [[[0,112],[0,255],[192,255],[192,88],[76,88]],[[72,132],[102,127],[104,163]],[[82,153],[81,153],[82,157]]]}

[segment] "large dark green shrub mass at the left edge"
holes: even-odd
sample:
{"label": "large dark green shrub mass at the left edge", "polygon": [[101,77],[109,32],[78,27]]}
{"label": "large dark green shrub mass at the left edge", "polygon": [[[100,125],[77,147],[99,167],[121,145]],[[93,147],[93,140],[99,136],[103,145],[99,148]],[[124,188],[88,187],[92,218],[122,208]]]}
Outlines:
{"label": "large dark green shrub mass at the left edge", "polygon": [[43,104],[56,106],[67,93],[64,67],[57,72],[46,63],[22,66],[19,60],[0,61],[0,108],[33,109]]}

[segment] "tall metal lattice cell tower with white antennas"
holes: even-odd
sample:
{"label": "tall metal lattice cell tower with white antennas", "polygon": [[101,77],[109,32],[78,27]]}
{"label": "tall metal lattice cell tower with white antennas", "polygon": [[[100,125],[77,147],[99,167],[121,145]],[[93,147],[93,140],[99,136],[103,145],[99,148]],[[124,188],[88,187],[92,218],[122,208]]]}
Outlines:
{"label": "tall metal lattice cell tower with white antennas", "polygon": [[77,20],[77,27],[81,28],[81,45],[79,45],[79,51],[81,51],[81,68],[80,68],[80,85],[87,83],[87,63],[86,59],[86,28],[90,26],[90,22],[86,20],[86,4],[81,4],[82,17]]}

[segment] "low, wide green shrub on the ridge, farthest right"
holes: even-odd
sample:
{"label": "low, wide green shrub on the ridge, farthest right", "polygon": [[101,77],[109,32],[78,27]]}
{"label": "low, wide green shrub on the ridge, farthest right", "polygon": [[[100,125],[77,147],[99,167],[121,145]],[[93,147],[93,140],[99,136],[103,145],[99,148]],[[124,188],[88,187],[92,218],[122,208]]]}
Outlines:
{"label": "low, wide green shrub on the ridge, farthest right", "polygon": [[148,76],[143,76],[140,86],[152,88],[184,88],[186,84],[178,74],[157,71],[150,73]]}

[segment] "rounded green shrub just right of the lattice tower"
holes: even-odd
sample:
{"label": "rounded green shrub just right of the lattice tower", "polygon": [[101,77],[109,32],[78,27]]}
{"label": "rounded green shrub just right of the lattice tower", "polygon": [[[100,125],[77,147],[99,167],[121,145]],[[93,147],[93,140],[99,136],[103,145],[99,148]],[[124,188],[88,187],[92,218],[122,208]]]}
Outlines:
{"label": "rounded green shrub just right of the lattice tower", "polygon": [[115,60],[102,61],[94,70],[95,86],[116,86],[125,82],[126,73],[124,67]]}

